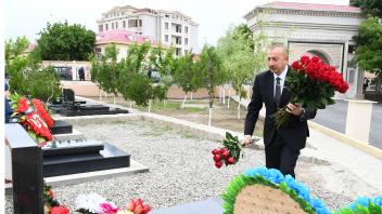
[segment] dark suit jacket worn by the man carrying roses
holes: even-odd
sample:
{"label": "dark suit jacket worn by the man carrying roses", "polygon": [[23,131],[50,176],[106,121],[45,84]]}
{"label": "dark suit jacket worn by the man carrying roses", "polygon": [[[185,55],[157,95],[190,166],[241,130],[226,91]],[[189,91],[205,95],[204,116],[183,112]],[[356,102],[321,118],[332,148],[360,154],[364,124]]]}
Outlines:
{"label": "dark suit jacket worn by the man carrying roses", "polygon": [[[291,67],[288,69],[286,77],[289,76]],[[273,99],[275,90],[275,78],[273,72],[270,70],[260,72],[256,76],[253,85],[253,94],[251,103],[247,107],[247,115],[245,118],[244,135],[252,135],[255,129],[255,124],[258,118],[258,112],[263,107],[263,103],[266,107],[266,118],[264,121],[264,144],[265,146],[273,142],[276,135],[280,135],[285,144],[293,149],[302,149],[305,147],[306,137],[309,136],[309,130],[307,120],[316,117],[316,109],[305,109],[305,113],[301,117],[291,115],[290,122],[286,128],[280,128],[279,130],[275,126],[273,118],[270,116],[278,110]],[[288,105],[291,98],[289,93],[286,81],[284,82],[284,89],[282,90],[279,108]]]}

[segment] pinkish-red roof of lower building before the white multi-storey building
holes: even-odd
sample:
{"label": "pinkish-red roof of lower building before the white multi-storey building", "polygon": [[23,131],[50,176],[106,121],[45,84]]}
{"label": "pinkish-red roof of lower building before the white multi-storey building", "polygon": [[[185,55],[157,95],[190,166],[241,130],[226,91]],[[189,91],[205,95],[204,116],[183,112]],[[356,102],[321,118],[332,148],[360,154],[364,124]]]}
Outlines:
{"label": "pinkish-red roof of lower building before the white multi-storey building", "polygon": [[111,43],[111,42],[120,42],[120,43],[135,43],[142,44],[144,42],[150,42],[151,44],[156,45],[156,41],[148,36],[137,35],[128,30],[111,30],[103,31],[97,35],[97,43]]}

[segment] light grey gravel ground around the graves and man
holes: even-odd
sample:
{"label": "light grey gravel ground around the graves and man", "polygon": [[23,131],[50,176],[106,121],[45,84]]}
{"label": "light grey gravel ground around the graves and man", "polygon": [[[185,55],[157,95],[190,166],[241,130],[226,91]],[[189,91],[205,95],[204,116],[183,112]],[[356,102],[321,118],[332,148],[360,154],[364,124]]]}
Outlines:
{"label": "light grey gravel ground around the graves and man", "polygon": [[[219,147],[212,142],[149,121],[112,122],[105,124],[74,124],[88,138],[112,143],[131,153],[131,158],[150,169],[149,173],[118,176],[98,182],[53,188],[61,202],[75,209],[78,193],[97,192],[118,206],[126,206],[131,198],[142,198],[152,208],[168,208],[216,197],[230,180],[244,170],[264,165],[264,151],[245,149],[244,159],[234,166],[217,170],[211,150]],[[332,209],[351,202],[347,190],[330,191],[326,180],[315,176],[317,165],[300,162],[302,182],[308,184],[314,197],[321,198]],[[326,173],[330,165],[322,166]],[[314,179],[313,179],[314,178]],[[346,187],[347,188],[347,187]],[[7,213],[12,213],[12,198],[7,196]]]}

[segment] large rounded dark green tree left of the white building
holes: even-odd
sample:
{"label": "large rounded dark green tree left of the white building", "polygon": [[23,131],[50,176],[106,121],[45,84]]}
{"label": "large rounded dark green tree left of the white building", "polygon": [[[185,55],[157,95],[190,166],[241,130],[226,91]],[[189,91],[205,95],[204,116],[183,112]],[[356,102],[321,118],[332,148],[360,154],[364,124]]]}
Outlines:
{"label": "large rounded dark green tree left of the white building", "polygon": [[47,24],[37,40],[44,61],[87,61],[93,52],[96,34],[81,25]]}

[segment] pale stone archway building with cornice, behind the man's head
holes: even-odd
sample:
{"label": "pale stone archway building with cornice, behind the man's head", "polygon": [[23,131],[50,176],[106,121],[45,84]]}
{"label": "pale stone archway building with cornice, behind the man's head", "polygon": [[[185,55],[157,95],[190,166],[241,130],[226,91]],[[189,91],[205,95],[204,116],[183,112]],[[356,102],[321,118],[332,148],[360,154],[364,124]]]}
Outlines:
{"label": "pale stone archway building with cornice, behind the man's head", "polygon": [[[289,48],[293,62],[304,54],[316,55],[334,66],[349,84],[346,97],[361,94],[364,71],[354,62],[355,41],[364,21],[360,9],[348,5],[272,2],[256,6],[244,18],[254,34]],[[361,88],[361,86],[360,86]],[[343,97],[344,98],[344,97]]]}

